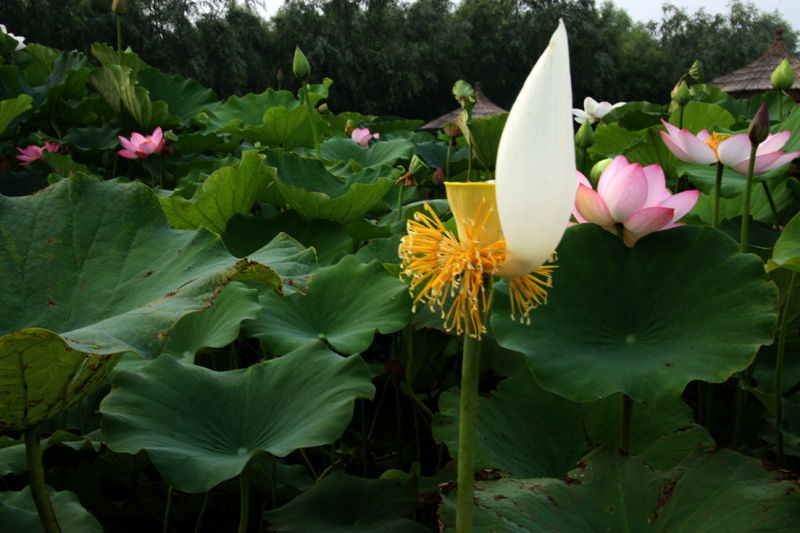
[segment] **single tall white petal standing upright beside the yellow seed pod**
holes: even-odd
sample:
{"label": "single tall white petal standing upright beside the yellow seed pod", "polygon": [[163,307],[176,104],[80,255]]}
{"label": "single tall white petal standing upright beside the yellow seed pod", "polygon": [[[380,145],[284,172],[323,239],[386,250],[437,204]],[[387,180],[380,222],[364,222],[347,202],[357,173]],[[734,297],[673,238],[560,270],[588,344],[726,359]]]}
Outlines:
{"label": "single tall white petal standing upright beside the yellow seed pod", "polygon": [[575,148],[567,31],[559,22],[508,116],[497,153],[497,209],[508,259],[500,275],[541,266],[575,202]]}

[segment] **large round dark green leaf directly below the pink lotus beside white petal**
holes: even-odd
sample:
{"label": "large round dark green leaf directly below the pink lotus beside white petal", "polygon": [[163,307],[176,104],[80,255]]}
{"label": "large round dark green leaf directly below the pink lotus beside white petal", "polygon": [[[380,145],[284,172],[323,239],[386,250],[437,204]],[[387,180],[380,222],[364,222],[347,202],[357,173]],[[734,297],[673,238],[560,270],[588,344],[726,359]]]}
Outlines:
{"label": "large round dark green leaf directly below the pink lotus beside white petal", "polygon": [[628,248],[581,224],[564,235],[557,265],[530,325],[511,320],[498,284],[492,326],[501,346],[528,356],[542,387],[571,400],[623,392],[666,403],[690,381],[725,381],[772,342],[777,295],[763,263],[711,228],[661,231]]}

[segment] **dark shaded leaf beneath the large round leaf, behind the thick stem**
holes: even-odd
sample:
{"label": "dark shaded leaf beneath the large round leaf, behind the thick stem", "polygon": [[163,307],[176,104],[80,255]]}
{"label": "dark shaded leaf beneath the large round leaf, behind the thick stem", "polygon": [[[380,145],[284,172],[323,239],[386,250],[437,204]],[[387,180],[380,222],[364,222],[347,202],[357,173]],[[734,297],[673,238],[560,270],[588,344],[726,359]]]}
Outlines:
{"label": "dark shaded leaf beneath the large round leaf, behind the thick stem", "polygon": [[[459,395],[443,393],[433,435],[458,455]],[[527,369],[478,399],[475,469],[517,478],[561,477],[595,446],[619,441],[620,395],[579,404],[539,387]],[[652,468],[676,465],[698,444],[713,446],[682,400],[663,407],[636,403],[630,453]]]}

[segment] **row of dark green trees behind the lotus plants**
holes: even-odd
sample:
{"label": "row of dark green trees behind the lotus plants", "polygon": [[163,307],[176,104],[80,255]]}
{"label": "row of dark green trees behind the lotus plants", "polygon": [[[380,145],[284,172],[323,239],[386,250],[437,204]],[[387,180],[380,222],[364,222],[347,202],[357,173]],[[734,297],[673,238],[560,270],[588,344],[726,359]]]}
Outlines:
{"label": "row of dark green trees behind the lotus plants", "polygon": [[[89,55],[92,42],[116,42],[110,0],[3,0],[9,32]],[[271,20],[259,0],[129,0],[123,44],[164,72],[193,78],[220,98],[277,87],[296,90],[291,62],[299,45],[336,83],[335,112],[431,119],[450,111],[458,79],[480,81],[510,107],[528,68],[563,18],[570,33],[573,94],[597,100],[661,102],[700,59],[705,81],[766,51],[775,29],[797,49],[778,14],[733,1],[724,15],[665,3],[659,21],[633,22],[613,2],[594,0],[286,0]]]}

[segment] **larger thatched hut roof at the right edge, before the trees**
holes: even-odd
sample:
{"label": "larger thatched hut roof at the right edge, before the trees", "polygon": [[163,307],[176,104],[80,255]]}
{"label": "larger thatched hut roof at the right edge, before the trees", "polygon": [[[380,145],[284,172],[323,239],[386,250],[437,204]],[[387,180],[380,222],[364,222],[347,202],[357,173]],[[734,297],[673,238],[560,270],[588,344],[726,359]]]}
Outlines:
{"label": "larger thatched hut roof at the right edge, before the trees", "polygon": [[772,72],[784,59],[789,60],[789,65],[794,71],[794,85],[787,91],[796,102],[800,102],[800,58],[792,54],[783,40],[783,28],[775,31],[775,42],[767,52],[746,67],[735,70],[730,74],[709,82],[709,85],[719,87],[726,93],[737,98],[750,98],[756,94],[771,90]]}

